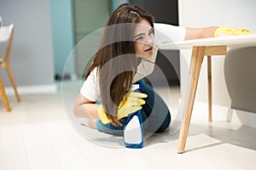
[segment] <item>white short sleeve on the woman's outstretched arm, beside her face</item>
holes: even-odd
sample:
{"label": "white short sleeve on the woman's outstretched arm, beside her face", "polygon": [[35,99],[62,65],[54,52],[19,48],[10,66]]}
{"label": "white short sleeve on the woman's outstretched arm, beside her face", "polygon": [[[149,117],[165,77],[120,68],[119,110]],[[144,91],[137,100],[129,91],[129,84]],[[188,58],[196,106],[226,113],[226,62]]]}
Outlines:
{"label": "white short sleeve on the woman's outstretched arm, beside her face", "polygon": [[179,42],[185,39],[186,29],[183,26],[154,23],[154,36],[158,46],[166,42]]}

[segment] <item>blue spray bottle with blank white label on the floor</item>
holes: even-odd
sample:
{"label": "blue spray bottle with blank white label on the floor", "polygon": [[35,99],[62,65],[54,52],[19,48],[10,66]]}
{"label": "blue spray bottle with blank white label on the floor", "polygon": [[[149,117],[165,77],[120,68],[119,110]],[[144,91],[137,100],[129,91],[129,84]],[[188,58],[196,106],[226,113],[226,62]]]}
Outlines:
{"label": "blue spray bottle with blank white label on the floor", "polygon": [[[134,84],[131,91],[142,88],[142,84]],[[124,125],[124,143],[126,148],[143,148],[143,118],[141,111],[136,111],[128,116]]]}

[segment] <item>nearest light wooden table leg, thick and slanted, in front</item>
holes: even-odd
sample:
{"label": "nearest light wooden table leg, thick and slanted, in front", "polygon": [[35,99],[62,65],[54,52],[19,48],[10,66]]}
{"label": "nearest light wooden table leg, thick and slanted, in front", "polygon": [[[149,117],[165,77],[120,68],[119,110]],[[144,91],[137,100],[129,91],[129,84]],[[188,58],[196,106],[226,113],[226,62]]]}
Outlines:
{"label": "nearest light wooden table leg, thick and slanted, in front", "polygon": [[188,105],[188,109],[185,110],[185,120],[183,124],[181,125],[180,133],[179,133],[179,139],[177,144],[177,153],[183,153],[185,150],[185,145],[189,133],[189,123],[191,119],[191,114],[193,110],[193,105],[195,101],[195,92],[197,88],[197,83],[201,71],[201,64],[204,58],[205,54],[205,47],[194,47],[192,51],[192,56],[190,60],[190,66],[189,66],[189,76],[192,78],[191,83],[188,85],[188,92],[189,94],[186,94],[186,99],[184,99],[184,102],[186,105]]}

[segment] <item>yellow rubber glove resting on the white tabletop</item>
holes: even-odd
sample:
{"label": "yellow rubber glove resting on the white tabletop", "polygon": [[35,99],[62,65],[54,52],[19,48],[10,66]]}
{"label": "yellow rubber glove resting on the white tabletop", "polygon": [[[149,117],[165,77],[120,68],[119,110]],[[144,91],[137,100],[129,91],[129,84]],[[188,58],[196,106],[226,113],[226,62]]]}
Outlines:
{"label": "yellow rubber glove resting on the white tabletop", "polygon": [[253,31],[249,31],[244,28],[230,28],[230,26],[219,26],[214,32],[214,37],[219,37],[219,35],[233,35],[233,36],[244,36],[247,34],[253,34]]}

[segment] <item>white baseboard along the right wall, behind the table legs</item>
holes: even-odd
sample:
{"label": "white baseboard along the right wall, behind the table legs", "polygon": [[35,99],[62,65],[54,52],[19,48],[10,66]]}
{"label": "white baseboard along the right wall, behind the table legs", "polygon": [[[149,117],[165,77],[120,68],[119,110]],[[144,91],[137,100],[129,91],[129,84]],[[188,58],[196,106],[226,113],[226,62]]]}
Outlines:
{"label": "white baseboard along the right wall, behind the table legs", "polygon": [[[197,121],[201,121],[201,119],[206,121],[208,116],[207,111],[208,104],[206,102],[196,101],[193,112],[201,114],[193,114],[192,118],[195,116]],[[247,127],[256,128],[256,113],[231,109],[222,105],[212,105],[212,122],[214,121],[235,122]]]}

